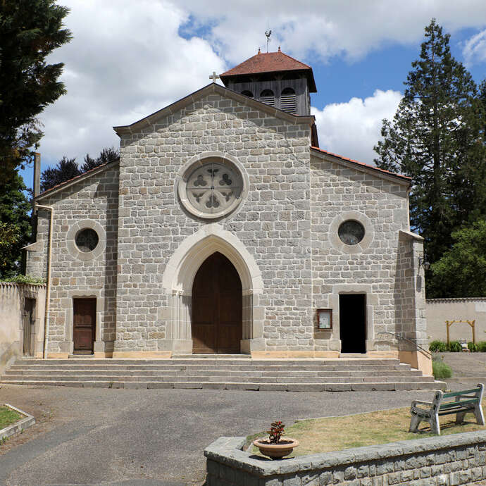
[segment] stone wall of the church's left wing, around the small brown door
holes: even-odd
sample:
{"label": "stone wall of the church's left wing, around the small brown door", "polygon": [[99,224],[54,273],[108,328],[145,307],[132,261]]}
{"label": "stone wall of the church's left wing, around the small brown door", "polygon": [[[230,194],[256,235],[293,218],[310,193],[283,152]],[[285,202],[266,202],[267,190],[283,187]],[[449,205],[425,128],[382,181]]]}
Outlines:
{"label": "stone wall of the church's left wing, around the small brown door", "polygon": [[[105,170],[48,193],[39,204],[54,207],[49,351],[72,351],[75,297],[96,297],[95,351],[111,351],[116,327],[118,166],[111,163]],[[29,251],[34,256],[27,260],[27,273],[37,275],[42,268],[44,278],[49,218],[49,210],[39,209],[38,251]],[[87,254],[74,244],[75,234],[82,228],[93,228],[99,235],[98,246]]]}

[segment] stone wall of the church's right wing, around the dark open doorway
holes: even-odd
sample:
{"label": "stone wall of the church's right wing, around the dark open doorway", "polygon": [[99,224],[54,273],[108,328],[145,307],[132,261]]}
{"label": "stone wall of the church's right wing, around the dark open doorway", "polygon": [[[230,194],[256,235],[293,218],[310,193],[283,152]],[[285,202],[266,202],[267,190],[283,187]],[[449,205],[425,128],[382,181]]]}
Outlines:
{"label": "stone wall of the church's right wing, around the dark open doorway", "polygon": [[[316,335],[316,349],[339,351],[339,294],[366,294],[367,351],[387,350],[396,332],[399,230],[409,230],[407,184],[348,168],[328,156],[311,158],[311,237],[314,308],[332,309],[333,330]],[[354,246],[337,235],[344,220],[366,234]],[[408,275],[407,278],[410,278]]]}

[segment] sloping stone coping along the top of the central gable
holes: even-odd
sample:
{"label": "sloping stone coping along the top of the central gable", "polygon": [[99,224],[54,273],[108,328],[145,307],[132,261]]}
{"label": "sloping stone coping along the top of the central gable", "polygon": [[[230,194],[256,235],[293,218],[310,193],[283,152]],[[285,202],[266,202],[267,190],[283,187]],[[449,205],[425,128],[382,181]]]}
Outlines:
{"label": "sloping stone coping along the top of the central gable", "polygon": [[146,116],[141,120],[137,120],[136,122],[130,125],[120,125],[117,127],[113,127],[113,130],[115,130],[116,134],[119,137],[121,137],[121,135],[123,134],[131,134],[131,133],[138,132],[144,127],[151,127],[152,125],[154,125],[154,123],[156,123],[161,118],[172,115],[173,113],[180,111],[182,108],[185,108],[189,104],[194,103],[194,101],[197,101],[203,98],[204,96],[213,93],[220,94],[220,96],[225,96],[227,98],[234,99],[235,101],[239,101],[242,104],[252,106],[253,108],[268,113],[268,115],[270,116],[275,116],[275,118],[286,120],[289,123],[293,123],[293,124],[305,123],[311,126],[316,121],[316,118],[313,115],[310,116],[292,115],[291,113],[287,113],[286,111],[282,111],[278,108],[274,108],[273,106],[268,106],[264,103],[261,103],[261,101],[257,101],[256,99],[249,98],[248,96],[244,96],[244,94],[237,93],[227,87],[216,85],[215,82],[211,82],[209,85],[206,85],[205,87],[202,87],[201,89],[198,89],[197,91],[188,94],[187,96],[184,96],[184,98],[175,101],[174,103],[166,106],[165,108],[162,108],[161,110],[151,113],[151,115]]}

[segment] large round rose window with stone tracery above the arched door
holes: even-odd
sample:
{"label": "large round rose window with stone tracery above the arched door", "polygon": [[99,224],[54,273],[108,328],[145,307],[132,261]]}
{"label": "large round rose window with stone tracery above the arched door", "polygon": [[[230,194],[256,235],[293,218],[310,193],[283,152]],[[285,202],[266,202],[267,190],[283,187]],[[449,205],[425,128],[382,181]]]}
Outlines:
{"label": "large round rose window with stone tracery above the arched door", "polygon": [[192,164],[178,192],[187,211],[201,218],[220,218],[242,201],[244,181],[239,169],[224,159]]}

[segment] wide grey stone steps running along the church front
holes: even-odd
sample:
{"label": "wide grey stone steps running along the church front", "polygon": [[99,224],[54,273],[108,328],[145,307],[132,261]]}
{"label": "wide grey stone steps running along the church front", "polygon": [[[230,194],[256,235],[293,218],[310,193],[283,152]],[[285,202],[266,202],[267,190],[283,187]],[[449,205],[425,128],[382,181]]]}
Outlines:
{"label": "wide grey stone steps running along the church front", "polygon": [[397,359],[251,359],[240,354],[172,359],[18,359],[0,382],[287,392],[436,390],[445,386]]}

